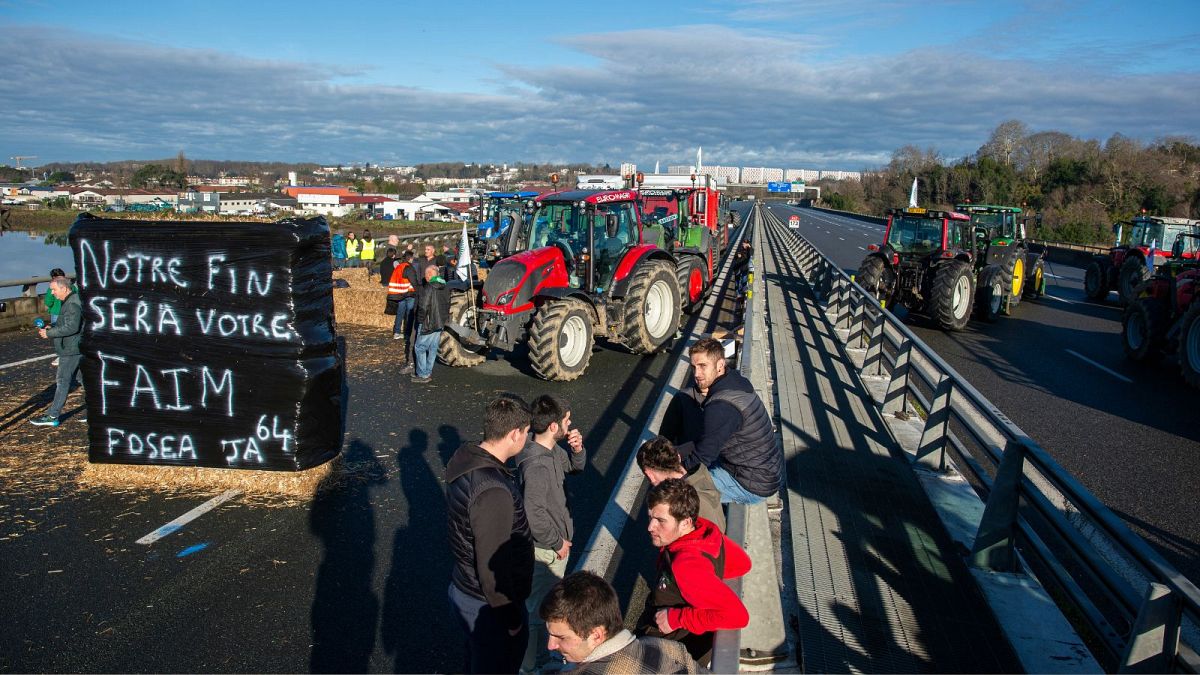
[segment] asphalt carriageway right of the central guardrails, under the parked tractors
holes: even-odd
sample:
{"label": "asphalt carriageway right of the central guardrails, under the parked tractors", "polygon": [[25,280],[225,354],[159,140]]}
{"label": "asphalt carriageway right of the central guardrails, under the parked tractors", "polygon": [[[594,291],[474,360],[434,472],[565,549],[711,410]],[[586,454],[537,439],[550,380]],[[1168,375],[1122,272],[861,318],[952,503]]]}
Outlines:
{"label": "asphalt carriageway right of the central guardrails, under the parked tractors", "polygon": [[[883,226],[773,205],[848,273],[883,240]],[[1048,295],[1013,316],[943,333],[918,316],[913,331],[1040,443],[1135,532],[1200,580],[1200,393],[1174,363],[1139,366],[1121,346],[1116,295],[1085,299],[1084,271],[1046,267]]]}

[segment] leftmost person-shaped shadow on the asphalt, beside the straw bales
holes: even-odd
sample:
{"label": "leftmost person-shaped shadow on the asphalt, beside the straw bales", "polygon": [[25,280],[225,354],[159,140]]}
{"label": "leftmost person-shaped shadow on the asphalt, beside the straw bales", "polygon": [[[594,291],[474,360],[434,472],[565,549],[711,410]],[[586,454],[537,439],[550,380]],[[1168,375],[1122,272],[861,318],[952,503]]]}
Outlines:
{"label": "leftmost person-shaped shadow on the asphalt, beside the straw bales", "polygon": [[352,441],[342,459],[346,471],[322,483],[308,516],[324,548],[312,602],[312,673],[367,671],[379,625],[371,489],[388,478],[362,441]]}

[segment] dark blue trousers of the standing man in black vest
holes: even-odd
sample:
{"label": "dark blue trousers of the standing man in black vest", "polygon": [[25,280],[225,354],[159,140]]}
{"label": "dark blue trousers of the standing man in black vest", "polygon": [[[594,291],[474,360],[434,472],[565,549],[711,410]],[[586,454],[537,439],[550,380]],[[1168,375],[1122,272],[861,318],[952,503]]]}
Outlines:
{"label": "dark blue trousers of the standing man in black vest", "polygon": [[[450,609],[467,635],[467,673],[516,673],[521,668],[529,639],[528,616],[522,629],[510,635],[504,621],[492,607],[458,590],[452,583],[446,592]],[[520,603],[524,614],[524,603]]]}

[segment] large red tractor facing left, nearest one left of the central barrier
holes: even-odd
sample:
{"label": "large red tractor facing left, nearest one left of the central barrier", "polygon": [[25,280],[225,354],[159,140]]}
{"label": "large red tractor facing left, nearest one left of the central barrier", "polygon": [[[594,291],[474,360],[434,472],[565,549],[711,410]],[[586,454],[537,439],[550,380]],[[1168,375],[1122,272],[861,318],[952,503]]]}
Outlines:
{"label": "large red tractor facing left, nearest one left of the central barrier", "polygon": [[454,366],[482,363],[493,347],[529,346],[533,370],[569,381],[592,359],[595,338],[636,354],[660,350],[679,327],[677,257],[659,228],[642,227],[634,190],[542,195],[512,233],[479,293],[451,295],[438,357]]}

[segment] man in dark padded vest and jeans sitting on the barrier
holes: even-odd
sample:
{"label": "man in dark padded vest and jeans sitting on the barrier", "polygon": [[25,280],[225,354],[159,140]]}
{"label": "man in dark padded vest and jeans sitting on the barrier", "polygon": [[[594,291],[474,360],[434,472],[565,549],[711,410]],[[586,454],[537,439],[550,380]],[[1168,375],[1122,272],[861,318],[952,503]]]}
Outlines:
{"label": "man in dark padded vest and jeans sitting on the barrier", "polygon": [[707,390],[704,425],[695,442],[678,446],[684,468],[703,464],[721,502],[758,503],[784,485],[784,449],[767,407],[750,381],[725,364],[725,347],[704,338],[688,350],[696,388]]}

